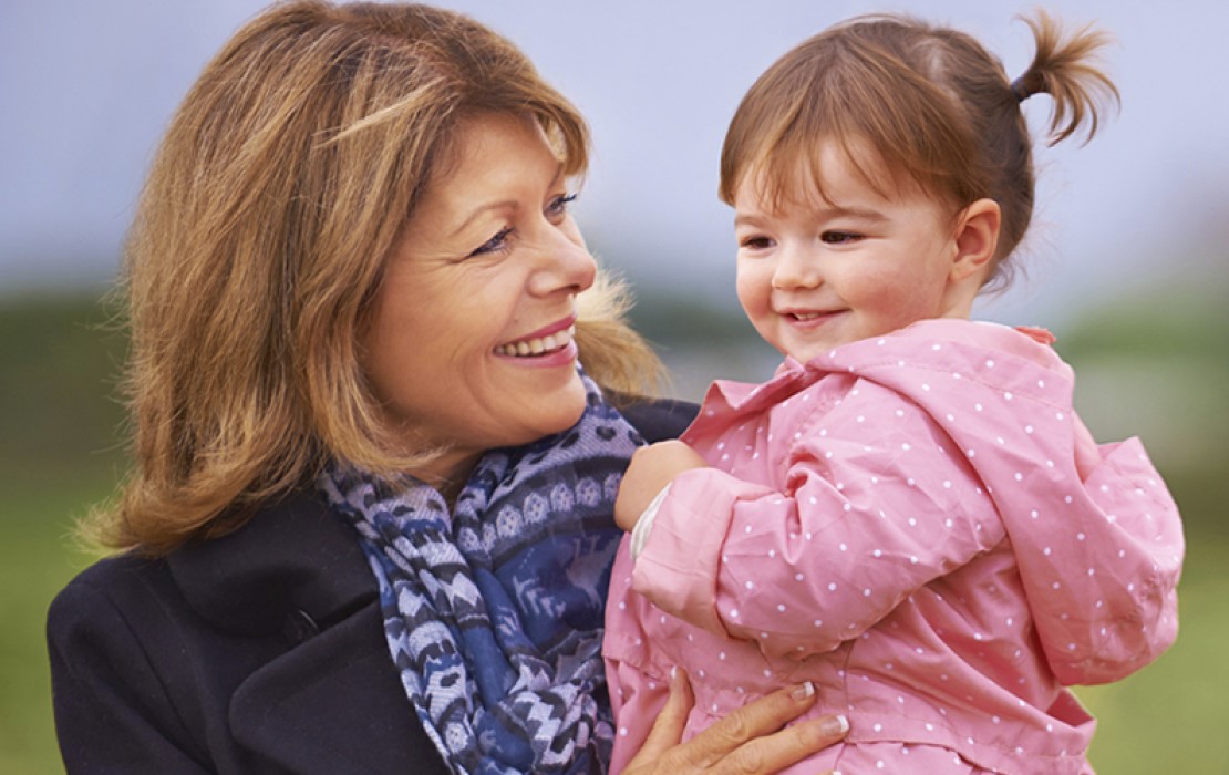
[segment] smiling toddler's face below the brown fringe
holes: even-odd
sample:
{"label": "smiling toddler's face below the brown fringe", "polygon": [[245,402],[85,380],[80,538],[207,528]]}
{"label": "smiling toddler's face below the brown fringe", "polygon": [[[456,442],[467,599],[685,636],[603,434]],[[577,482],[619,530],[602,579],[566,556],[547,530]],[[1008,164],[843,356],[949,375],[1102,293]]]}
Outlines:
{"label": "smiling toddler's face below the brown fringe", "polygon": [[950,287],[951,210],[912,188],[885,199],[832,144],[820,163],[831,201],[810,187],[774,210],[756,174],[736,192],[739,301],[760,335],[806,362],[923,318],[964,314]]}

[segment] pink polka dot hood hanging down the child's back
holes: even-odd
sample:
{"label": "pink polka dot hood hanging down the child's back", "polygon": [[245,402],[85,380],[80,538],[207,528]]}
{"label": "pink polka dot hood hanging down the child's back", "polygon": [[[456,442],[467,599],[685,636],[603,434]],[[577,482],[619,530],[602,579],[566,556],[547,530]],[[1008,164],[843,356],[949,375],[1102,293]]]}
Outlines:
{"label": "pink polka dot hood hanging down the child's back", "polygon": [[[1159,656],[1177,635],[1168,612],[1185,547],[1139,440],[1101,445],[1082,478],[1086,431],[1052,338],[967,321],[925,321],[909,334],[855,343],[836,360],[907,394],[959,445],[1007,527],[1054,674],[1106,683]],[[933,389],[938,380],[961,389]],[[1109,626],[1094,615],[1106,606],[1126,612]]]}

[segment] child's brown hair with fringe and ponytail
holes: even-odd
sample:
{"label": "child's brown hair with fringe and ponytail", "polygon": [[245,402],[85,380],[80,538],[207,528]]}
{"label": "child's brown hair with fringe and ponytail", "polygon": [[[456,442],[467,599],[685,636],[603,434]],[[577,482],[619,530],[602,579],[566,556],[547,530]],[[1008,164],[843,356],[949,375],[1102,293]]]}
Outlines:
{"label": "child's brown hair with fringe and ponytail", "polygon": [[[821,185],[819,149],[832,141],[880,193],[912,184],[955,211],[997,201],[1003,220],[987,286],[1005,286],[1004,258],[1029,228],[1035,195],[1020,102],[1039,92],[1053,98],[1053,145],[1080,128],[1091,139],[1105,103],[1118,98],[1094,60],[1105,33],[1085,26],[1064,36],[1040,10],[1024,21],[1036,53],[1014,82],[971,36],[908,16],[860,16],[803,42],[739,106],[721,151],[721,199],[732,204],[748,173],[774,205]],[[859,160],[865,146],[878,160]]]}

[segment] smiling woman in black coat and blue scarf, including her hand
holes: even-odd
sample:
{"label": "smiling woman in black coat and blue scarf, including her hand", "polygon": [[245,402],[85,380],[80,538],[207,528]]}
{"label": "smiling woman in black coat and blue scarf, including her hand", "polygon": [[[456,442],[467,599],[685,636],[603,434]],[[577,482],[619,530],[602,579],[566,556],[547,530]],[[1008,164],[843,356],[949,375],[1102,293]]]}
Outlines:
{"label": "smiling woman in black coat and blue scarf, including her hand", "polygon": [[[127,257],[122,551],[49,613],[69,771],[602,768],[614,490],[694,409],[627,398],[656,364],[568,215],[586,142],[426,6],[279,5],[205,69]],[[680,744],[678,676],[629,771],[777,769],[841,736],[777,731],[812,701]]]}

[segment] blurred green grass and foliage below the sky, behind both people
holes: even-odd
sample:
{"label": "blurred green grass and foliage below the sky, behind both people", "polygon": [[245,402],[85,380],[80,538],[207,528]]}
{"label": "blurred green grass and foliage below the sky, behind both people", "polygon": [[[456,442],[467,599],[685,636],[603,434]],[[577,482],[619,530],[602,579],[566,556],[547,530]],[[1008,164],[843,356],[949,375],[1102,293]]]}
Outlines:
{"label": "blurred green grass and foliage below the sky, behind both people", "polygon": [[[1182,507],[1188,554],[1181,634],[1155,664],[1079,689],[1100,720],[1099,773],[1229,773],[1229,314],[1224,284],[1150,292],[1062,332],[1077,366],[1077,405],[1100,438],[1139,434]],[[0,773],[60,773],[43,623],[55,592],[91,555],[73,523],[124,472],[114,377],[124,338],[97,296],[0,297]],[[646,298],[635,322],[667,364],[737,362],[745,324],[698,306]],[[742,338],[742,345],[736,340]],[[755,360],[755,359],[752,359]],[[709,370],[708,366],[699,367]],[[748,366],[750,368],[750,366]],[[715,372],[714,372],[715,373]],[[696,398],[712,373],[680,373]],[[737,375],[732,375],[737,376]],[[745,378],[751,378],[751,375]]]}

